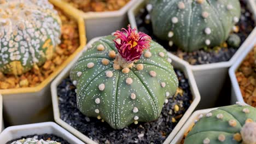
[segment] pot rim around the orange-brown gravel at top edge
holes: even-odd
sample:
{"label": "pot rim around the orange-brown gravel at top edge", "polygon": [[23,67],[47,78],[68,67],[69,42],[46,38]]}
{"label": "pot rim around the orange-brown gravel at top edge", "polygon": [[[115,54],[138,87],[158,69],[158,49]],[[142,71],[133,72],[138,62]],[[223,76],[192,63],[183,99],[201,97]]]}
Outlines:
{"label": "pot rim around the orange-brown gravel at top edge", "polygon": [[121,15],[124,15],[132,7],[132,5],[137,2],[137,0],[131,0],[119,10],[102,11],[102,12],[89,11],[85,13],[83,10],[79,10],[65,1],[62,1],[62,0],[51,0],[51,1],[54,1],[55,3],[59,3],[59,4],[67,4],[69,9],[76,11],[76,13],[79,13],[79,15],[82,16],[84,19],[97,19],[102,17],[118,17]]}

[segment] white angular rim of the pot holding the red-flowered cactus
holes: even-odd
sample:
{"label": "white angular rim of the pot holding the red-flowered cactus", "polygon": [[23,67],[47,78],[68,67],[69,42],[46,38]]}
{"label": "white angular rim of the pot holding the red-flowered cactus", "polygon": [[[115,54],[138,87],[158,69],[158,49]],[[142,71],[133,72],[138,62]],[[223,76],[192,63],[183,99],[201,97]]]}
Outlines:
{"label": "white angular rim of the pot holding the red-flowered cactus", "polygon": [[[89,43],[85,46],[84,51],[88,49],[89,46],[91,46],[92,43],[94,43],[96,40],[100,39],[101,37],[94,38],[89,41]],[[89,139],[89,137],[85,136],[84,134],[80,133],[77,129],[74,129],[71,125],[67,124],[65,121],[63,121],[60,118],[60,110],[59,110],[59,100],[57,96],[57,86],[61,82],[62,79],[67,77],[69,75],[69,70],[72,68],[73,64],[77,61],[77,59],[82,55],[82,52],[78,54],[77,57],[73,59],[73,61],[67,65],[67,67],[60,73],[59,76],[56,77],[56,79],[51,83],[51,98],[53,101],[53,109],[54,109],[54,119],[55,122],[60,124],[63,128],[70,131],[75,136],[79,137],[79,139],[83,140],[86,143],[96,143],[95,141]],[[171,134],[168,135],[164,143],[170,143],[173,137],[178,133],[179,129],[181,129],[182,125],[185,123],[185,121],[189,118],[191,113],[195,110],[197,104],[199,104],[200,101],[200,94],[199,90],[197,88],[194,75],[192,73],[192,70],[189,69],[187,64],[181,64],[177,61],[177,58],[172,59],[172,64],[174,67],[179,67],[179,69],[182,69],[185,76],[187,77],[189,81],[190,91],[193,95],[193,102],[189,106],[188,110],[184,113],[180,121],[177,123],[176,127],[172,130]]]}

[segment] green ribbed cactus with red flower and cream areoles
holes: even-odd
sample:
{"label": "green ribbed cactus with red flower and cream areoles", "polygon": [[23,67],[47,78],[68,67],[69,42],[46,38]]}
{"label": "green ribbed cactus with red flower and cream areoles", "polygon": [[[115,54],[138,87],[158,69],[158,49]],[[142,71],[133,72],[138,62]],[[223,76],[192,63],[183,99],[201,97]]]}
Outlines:
{"label": "green ribbed cactus with red flower and cream areoles", "polygon": [[92,44],[70,77],[79,110],[114,129],[155,120],[178,87],[166,50],[130,26]]}

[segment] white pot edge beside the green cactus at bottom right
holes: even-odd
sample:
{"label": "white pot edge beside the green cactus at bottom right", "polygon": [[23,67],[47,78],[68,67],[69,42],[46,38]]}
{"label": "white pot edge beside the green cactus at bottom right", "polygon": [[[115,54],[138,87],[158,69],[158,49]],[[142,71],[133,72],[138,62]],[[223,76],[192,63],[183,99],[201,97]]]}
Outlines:
{"label": "white pot edge beside the green cactus at bottom right", "polygon": [[188,133],[189,129],[191,127],[193,127],[194,123],[196,120],[198,120],[198,116],[200,114],[206,114],[212,110],[215,110],[217,108],[213,108],[213,109],[205,109],[205,110],[198,110],[195,111],[188,119],[188,121],[183,125],[183,127],[181,128],[181,130],[179,130],[178,134],[174,137],[174,139],[171,141],[171,143],[175,143],[175,144],[179,144],[181,143],[184,134]]}

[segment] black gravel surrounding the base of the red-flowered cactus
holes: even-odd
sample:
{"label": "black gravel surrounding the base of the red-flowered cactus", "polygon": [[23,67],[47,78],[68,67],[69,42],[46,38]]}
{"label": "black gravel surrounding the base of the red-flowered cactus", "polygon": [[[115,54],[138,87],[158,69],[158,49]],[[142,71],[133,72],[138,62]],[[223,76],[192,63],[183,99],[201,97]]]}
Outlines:
{"label": "black gravel surrounding the base of the red-flowered cactus", "polygon": [[[77,109],[75,86],[69,77],[57,87],[61,119],[98,143],[162,143],[187,111],[192,101],[188,80],[180,70],[175,70],[179,79],[180,91],[168,99],[160,117],[154,122],[139,122],[121,130],[112,129],[108,123],[97,118],[86,117]],[[174,112],[174,105],[179,111]],[[176,122],[172,122],[175,118]]]}

